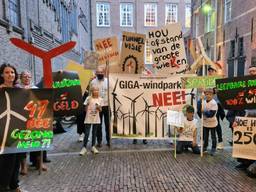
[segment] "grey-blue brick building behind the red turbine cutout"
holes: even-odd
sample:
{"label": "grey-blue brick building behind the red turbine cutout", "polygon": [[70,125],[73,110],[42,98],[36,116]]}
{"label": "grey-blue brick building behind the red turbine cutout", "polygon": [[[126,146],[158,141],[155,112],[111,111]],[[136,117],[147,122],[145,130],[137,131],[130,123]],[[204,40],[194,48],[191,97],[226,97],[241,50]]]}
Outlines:
{"label": "grey-blue brick building behind the red turbine cutout", "polygon": [[73,40],[77,44],[69,53],[53,60],[53,71],[63,69],[68,60],[81,63],[84,50],[91,49],[89,0],[1,0],[0,64],[8,62],[18,72],[30,70],[33,80],[42,77],[41,59],[13,46],[17,37],[41,49],[49,50]]}

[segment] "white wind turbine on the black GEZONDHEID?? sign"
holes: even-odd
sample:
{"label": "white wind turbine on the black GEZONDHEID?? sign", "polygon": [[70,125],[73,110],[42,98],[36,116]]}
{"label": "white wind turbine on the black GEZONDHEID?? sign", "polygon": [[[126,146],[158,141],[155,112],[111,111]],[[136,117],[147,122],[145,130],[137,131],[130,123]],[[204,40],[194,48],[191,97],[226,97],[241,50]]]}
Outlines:
{"label": "white wind turbine on the black GEZONDHEID?? sign", "polygon": [[3,117],[6,116],[6,124],[5,124],[5,128],[4,128],[4,137],[3,137],[3,141],[1,143],[1,149],[0,149],[0,154],[3,154],[4,152],[4,147],[6,144],[6,140],[7,140],[7,136],[8,136],[8,131],[9,131],[9,126],[10,126],[10,121],[11,121],[11,115],[13,115],[14,117],[26,122],[27,118],[23,117],[22,115],[20,115],[19,113],[11,110],[11,102],[10,102],[10,96],[7,93],[7,91],[4,92],[5,93],[5,98],[6,98],[6,110],[0,114],[0,119],[2,119]]}

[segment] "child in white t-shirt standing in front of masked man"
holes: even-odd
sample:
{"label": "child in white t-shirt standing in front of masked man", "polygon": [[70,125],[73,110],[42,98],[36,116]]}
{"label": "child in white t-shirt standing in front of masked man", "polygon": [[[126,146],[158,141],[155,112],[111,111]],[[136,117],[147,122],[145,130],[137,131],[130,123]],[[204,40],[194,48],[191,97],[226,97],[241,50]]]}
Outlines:
{"label": "child in white t-shirt standing in front of masked man", "polygon": [[84,146],[80,152],[80,155],[85,155],[87,153],[87,143],[88,138],[90,135],[90,130],[92,126],[92,152],[94,154],[99,153],[99,151],[95,147],[96,141],[96,133],[98,129],[101,128],[101,121],[100,121],[100,112],[101,112],[101,105],[102,105],[102,98],[99,97],[99,88],[93,86],[91,88],[91,96],[88,96],[84,102],[86,106],[86,116],[85,116],[85,130],[84,130]]}

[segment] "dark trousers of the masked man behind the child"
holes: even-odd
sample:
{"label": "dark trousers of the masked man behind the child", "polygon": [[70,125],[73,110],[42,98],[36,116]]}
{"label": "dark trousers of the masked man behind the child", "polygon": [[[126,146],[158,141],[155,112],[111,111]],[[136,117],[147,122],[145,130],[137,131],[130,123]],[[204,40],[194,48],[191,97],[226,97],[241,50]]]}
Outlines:
{"label": "dark trousers of the masked man behind the child", "polygon": [[102,125],[103,125],[103,117],[104,117],[104,124],[105,124],[105,131],[106,131],[106,140],[107,143],[110,144],[110,133],[109,133],[109,107],[103,106],[102,111],[100,112],[100,122],[101,127],[97,130],[97,142],[98,144],[102,143]]}

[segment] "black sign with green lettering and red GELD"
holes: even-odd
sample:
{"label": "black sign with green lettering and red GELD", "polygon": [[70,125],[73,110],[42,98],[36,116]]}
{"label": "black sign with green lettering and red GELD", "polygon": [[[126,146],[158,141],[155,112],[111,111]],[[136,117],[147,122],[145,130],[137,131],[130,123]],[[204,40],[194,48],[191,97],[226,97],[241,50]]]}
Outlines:
{"label": "black sign with green lettering and red GELD", "polygon": [[83,107],[81,82],[77,73],[54,72],[54,116],[72,116],[79,114]]}

